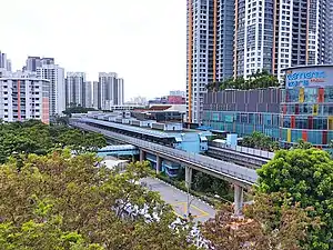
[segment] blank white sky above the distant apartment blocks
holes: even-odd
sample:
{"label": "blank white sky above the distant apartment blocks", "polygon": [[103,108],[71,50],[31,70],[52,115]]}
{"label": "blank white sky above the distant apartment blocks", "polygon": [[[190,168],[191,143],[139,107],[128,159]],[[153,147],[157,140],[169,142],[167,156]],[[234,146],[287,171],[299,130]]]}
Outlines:
{"label": "blank white sky above the distant apartment blocks", "polygon": [[184,0],[2,0],[0,32],[14,70],[53,57],[91,81],[117,72],[125,100],[185,90]]}

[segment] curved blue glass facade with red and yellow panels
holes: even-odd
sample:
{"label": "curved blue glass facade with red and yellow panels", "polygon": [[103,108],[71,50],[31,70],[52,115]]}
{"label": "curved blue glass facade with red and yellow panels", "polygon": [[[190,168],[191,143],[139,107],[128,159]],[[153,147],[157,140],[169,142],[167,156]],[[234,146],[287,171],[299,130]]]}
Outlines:
{"label": "curved blue glass facade with red and yellow panels", "polygon": [[284,89],[280,112],[282,143],[302,138],[325,148],[333,140],[333,87]]}

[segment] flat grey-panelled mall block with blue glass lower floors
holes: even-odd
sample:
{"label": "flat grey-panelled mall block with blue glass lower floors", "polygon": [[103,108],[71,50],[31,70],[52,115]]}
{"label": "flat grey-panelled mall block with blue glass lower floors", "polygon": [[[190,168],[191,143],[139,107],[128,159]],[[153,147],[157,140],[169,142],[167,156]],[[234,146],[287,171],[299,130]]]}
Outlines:
{"label": "flat grey-panelled mall block with blue glass lower floors", "polygon": [[203,123],[240,137],[259,131],[280,138],[281,89],[224,90],[204,97]]}

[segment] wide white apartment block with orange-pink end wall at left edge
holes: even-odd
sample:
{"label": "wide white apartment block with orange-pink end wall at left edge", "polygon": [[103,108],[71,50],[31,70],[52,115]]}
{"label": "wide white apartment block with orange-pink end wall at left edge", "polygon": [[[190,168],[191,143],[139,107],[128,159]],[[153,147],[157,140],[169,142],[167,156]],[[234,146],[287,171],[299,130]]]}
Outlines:
{"label": "wide white apartment block with orange-pink end wall at left edge", "polygon": [[7,72],[0,77],[0,119],[29,119],[49,123],[50,81],[28,73]]}

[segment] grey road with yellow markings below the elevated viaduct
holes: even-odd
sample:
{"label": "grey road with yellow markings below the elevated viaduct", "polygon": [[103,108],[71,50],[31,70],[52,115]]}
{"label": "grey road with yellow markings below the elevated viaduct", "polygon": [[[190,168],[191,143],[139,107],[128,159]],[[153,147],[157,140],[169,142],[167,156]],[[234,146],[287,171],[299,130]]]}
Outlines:
{"label": "grey road with yellow markings below the elevated viaduct", "polygon": [[[159,179],[144,178],[142,182],[148,184],[152,191],[161,194],[161,198],[172,206],[174,213],[181,218],[185,218],[188,213],[188,194],[181,190],[162,182]],[[194,221],[204,222],[215,216],[215,210],[200,201],[199,199],[190,196],[190,212],[194,217]]]}

